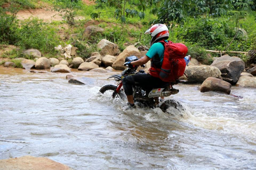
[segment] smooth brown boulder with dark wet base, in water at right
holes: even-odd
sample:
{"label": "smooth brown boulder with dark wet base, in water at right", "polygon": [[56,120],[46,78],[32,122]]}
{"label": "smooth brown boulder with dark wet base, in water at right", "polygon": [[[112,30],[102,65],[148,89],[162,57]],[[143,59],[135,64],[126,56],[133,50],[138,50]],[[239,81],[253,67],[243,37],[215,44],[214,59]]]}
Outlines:
{"label": "smooth brown boulder with dark wet base, in water at right", "polygon": [[230,94],[231,84],[223,81],[221,79],[217,79],[214,77],[209,77],[204,80],[203,84],[201,85],[200,91],[207,92],[207,91],[221,91],[226,94]]}

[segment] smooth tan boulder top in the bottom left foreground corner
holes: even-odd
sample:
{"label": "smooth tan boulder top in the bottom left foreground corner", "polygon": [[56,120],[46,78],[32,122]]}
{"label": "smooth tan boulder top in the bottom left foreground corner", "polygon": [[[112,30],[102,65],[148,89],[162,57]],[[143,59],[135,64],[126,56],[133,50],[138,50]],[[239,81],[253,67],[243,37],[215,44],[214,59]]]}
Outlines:
{"label": "smooth tan boulder top in the bottom left foreground corner", "polygon": [[0,160],[1,170],[72,170],[46,157],[23,156]]}

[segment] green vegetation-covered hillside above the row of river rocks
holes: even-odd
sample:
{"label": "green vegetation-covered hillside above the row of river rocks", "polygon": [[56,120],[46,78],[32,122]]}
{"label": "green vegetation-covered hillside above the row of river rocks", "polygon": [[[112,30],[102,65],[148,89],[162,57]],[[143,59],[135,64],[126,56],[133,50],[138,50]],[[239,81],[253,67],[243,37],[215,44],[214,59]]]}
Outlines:
{"label": "green vegetation-covered hillside above the row of river rocks", "polygon": [[[0,43],[16,45],[21,50],[36,48],[49,57],[58,55],[55,46],[72,44],[79,48],[80,56],[87,58],[97,50],[96,44],[102,38],[116,43],[121,51],[137,42],[149,46],[151,37],[144,35],[144,31],[159,22],[170,28],[170,40],[186,44],[188,53],[206,64],[212,59],[205,49],[256,49],[256,3],[253,0],[214,0],[211,3],[206,0],[97,0],[93,5],[81,0],[43,1],[60,12],[65,20],[45,23],[30,18],[19,21],[16,17],[19,10],[40,7],[39,3],[35,0],[1,1]],[[77,15],[84,19],[75,20]],[[104,28],[104,32],[85,37],[83,32],[88,23]],[[65,24],[69,26],[64,27]],[[68,39],[74,33],[79,34],[77,38]],[[63,35],[66,39],[61,38]],[[245,55],[239,57],[244,61],[248,59]]]}

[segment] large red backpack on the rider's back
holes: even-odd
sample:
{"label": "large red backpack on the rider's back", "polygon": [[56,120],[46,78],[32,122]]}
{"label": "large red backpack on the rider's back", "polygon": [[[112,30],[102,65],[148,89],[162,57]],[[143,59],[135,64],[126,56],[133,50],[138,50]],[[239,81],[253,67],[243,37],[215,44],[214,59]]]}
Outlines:
{"label": "large red backpack on the rider's back", "polygon": [[163,63],[161,69],[151,67],[150,74],[164,82],[174,82],[184,74],[186,67],[184,57],[188,49],[181,43],[166,42],[165,40],[158,42],[162,43],[165,47]]}

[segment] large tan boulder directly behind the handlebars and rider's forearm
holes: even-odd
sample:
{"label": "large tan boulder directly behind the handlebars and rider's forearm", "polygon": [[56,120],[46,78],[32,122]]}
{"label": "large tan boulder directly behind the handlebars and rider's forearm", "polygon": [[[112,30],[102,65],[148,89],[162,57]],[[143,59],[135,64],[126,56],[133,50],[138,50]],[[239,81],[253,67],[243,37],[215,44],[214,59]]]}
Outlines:
{"label": "large tan boulder directly behind the handlebars and rider's forearm", "polygon": [[131,55],[140,57],[141,53],[135,46],[128,46],[117,56],[117,60],[113,63],[112,67],[116,70],[124,70],[126,68],[126,66],[124,66],[125,58]]}

